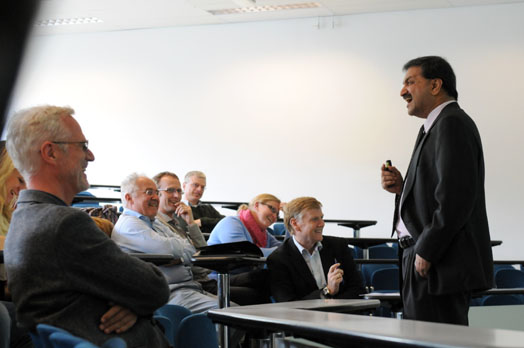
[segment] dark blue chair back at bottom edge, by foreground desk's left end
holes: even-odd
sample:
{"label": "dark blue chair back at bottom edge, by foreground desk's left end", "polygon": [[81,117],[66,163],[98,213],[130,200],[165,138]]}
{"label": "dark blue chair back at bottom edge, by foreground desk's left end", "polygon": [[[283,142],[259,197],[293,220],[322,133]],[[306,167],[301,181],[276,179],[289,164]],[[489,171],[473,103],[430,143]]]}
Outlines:
{"label": "dark blue chair back at bottom edge, by foreground desk's left end", "polygon": [[218,348],[215,325],[205,314],[191,314],[180,323],[175,336],[176,348]]}

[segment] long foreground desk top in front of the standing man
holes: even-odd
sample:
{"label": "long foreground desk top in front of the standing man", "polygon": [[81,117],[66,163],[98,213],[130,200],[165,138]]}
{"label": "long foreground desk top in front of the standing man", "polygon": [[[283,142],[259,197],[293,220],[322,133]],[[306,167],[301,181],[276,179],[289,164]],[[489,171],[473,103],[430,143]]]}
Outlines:
{"label": "long foreground desk top in front of the standing man", "polygon": [[307,310],[304,302],[307,301],[230,307],[211,310],[208,316],[224,324],[326,338],[345,346],[367,342],[377,347],[491,348],[522,347],[524,342],[521,331],[322,312],[309,306]]}

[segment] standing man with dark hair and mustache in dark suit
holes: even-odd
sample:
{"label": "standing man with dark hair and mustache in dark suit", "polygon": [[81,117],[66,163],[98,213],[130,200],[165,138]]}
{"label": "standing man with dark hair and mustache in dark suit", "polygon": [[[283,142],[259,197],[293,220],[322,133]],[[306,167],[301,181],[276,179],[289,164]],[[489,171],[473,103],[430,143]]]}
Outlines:
{"label": "standing man with dark hair and mustache in dark suit", "polygon": [[381,171],[396,194],[404,318],[467,325],[471,293],[493,285],[480,135],[446,60],[416,58],[404,70],[400,95],[425,122],[405,180],[393,166]]}

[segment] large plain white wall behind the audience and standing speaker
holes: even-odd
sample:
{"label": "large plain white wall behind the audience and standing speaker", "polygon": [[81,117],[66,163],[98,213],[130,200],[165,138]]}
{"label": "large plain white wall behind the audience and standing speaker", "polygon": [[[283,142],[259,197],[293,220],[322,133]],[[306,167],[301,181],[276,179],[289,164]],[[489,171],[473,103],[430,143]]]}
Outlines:
{"label": "large plain white wall behind the audience and standing speaker", "polygon": [[93,184],[201,169],[207,200],[312,195],[326,218],[378,220],[362,235],[387,237],[379,167],[405,170],[422,123],[401,67],[442,55],[483,138],[495,257],[522,259],[522,18],[516,4],[34,37],[13,108],[73,106]]}

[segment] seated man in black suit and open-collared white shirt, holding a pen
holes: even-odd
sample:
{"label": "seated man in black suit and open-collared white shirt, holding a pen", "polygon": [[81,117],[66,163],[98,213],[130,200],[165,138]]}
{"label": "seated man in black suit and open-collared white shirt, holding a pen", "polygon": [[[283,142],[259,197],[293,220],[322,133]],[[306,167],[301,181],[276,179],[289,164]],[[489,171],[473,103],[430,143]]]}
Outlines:
{"label": "seated man in black suit and open-collared white shirt, holding a pen", "polygon": [[296,198],[284,213],[291,237],[267,259],[271,295],[277,302],[358,298],[366,292],[347,243],[322,235],[325,223],[319,201]]}

